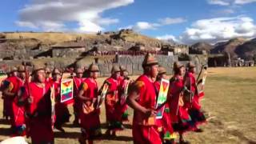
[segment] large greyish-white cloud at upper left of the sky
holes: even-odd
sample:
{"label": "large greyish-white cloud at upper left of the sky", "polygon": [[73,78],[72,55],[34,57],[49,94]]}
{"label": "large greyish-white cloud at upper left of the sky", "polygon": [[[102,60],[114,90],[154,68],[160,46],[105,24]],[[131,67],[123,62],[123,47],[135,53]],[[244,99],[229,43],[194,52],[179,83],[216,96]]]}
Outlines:
{"label": "large greyish-white cloud at upper left of the sky", "polygon": [[102,18],[105,10],[127,6],[134,0],[32,0],[19,10],[18,26],[42,30],[68,30],[66,22],[78,22],[79,32],[98,32],[102,26],[119,22],[117,18]]}

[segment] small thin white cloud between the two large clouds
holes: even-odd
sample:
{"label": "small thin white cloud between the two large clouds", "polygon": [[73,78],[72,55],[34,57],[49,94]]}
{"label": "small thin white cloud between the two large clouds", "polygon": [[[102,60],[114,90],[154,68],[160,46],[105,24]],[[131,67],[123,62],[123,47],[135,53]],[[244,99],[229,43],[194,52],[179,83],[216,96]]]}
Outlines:
{"label": "small thin white cloud between the two large clouds", "polygon": [[127,29],[127,28],[133,29],[136,31],[156,30],[160,26],[173,25],[173,24],[178,24],[178,23],[182,23],[182,22],[186,22],[186,19],[184,19],[184,18],[162,18],[162,19],[159,19],[158,22],[155,22],[155,23],[136,22],[135,25],[125,26],[125,27],[119,28],[119,30]]}

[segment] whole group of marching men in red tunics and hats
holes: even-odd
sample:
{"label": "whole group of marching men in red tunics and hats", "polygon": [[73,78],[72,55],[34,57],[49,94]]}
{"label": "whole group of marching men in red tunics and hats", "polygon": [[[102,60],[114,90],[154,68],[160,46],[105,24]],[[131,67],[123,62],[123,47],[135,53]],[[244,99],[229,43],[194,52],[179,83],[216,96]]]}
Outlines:
{"label": "whole group of marching men in red tunics and hats", "polygon": [[[195,65],[174,62],[173,76],[168,79],[166,69],[158,66],[153,55],[146,54],[142,68],[143,74],[134,81],[128,77],[124,66],[114,65],[110,78],[98,86],[98,65],[91,64],[86,70],[78,66],[70,74],[74,98],[62,102],[62,70],[50,71],[44,65],[34,65],[30,74],[26,65],[10,67],[1,90],[3,116],[10,122],[11,136],[26,135],[35,144],[54,143],[54,128],[66,132],[62,126],[70,122],[68,107],[71,104],[74,126],[81,128],[78,142],[93,143],[103,135],[100,114],[105,105],[106,136],[118,137],[118,130],[125,129],[130,106],[134,110],[134,143],[168,144],[175,143],[177,138],[179,143],[188,143],[183,138],[184,133],[202,132],[198,125],[206,122],[200,105],[204,93],[198,90]],[[163,79],[169,82],[169,88],[166,102],[158,107]],[[162,110],[162,117],[156,118],[159,110]]]}

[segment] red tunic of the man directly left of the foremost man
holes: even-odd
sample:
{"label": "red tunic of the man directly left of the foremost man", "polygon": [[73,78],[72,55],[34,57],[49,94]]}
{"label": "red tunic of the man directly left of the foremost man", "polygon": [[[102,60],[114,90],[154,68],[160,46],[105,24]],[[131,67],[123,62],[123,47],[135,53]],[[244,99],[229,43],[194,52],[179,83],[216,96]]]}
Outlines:
{"label": "red tunic of the man directly left of the foremost man", "polygon": [[116,109],[118,102],[118,80],[115,80],[114,78],[107,78],[106,81],[110,83],[110,87],[105,98],[106,121],[121,122],[120,114],[118,114],[118,110]]}

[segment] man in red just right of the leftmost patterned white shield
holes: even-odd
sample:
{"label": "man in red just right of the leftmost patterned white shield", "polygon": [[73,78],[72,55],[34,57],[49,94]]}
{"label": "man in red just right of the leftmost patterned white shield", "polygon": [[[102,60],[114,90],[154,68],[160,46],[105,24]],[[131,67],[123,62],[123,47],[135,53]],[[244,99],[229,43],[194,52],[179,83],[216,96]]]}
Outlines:
{"label": "man in red just right of the leftmost patterned white shield", "polygon": [[82,102],[80,101],[80,98],[78,98],[78,92],[79,92],[79,87],[81,86],[83,82],[82,78],[83,70],[82,68],[76,68],[75,70],[75,77],[73,77],[73,82],[74,82],[74,125],[79,126],[79,114],[80,110],[82,109]]}

